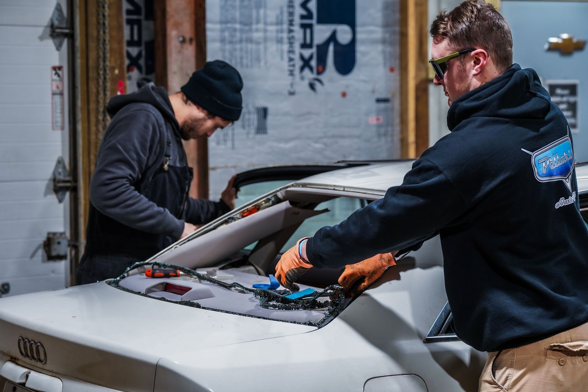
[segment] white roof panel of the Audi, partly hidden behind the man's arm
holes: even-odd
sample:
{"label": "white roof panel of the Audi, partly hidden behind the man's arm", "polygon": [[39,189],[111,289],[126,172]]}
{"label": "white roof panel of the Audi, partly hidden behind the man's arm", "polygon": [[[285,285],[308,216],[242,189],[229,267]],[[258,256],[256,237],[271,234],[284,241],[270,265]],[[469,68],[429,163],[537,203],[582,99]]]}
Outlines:
{"label": "white roof panel of the Audi, partly hidden behind the man's arm", "polygon": [[[373,189],[386,192],[390,186],[402,184],[414,160],[379,163],[376,165],[349,167],[334,170],[296,181],[296,184],[332,185],[359,189]],[[576,166],[576,177],[580,193],[588,192],[588,164]]]}

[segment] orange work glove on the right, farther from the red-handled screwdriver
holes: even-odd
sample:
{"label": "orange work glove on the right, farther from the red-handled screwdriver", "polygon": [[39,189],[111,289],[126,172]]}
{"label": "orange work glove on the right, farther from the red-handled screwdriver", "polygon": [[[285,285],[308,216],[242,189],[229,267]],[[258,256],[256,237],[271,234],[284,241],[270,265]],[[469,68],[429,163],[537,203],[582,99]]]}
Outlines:
{"label": "orange work glove on the right, farther from the red-handled screwdriver", "polygon": [[345,293],[358,296],[365,292],[386,271],[387,267],[396,265],[392,253],[381,253],[356,264],[345,266],[339,277],[339,284]]}

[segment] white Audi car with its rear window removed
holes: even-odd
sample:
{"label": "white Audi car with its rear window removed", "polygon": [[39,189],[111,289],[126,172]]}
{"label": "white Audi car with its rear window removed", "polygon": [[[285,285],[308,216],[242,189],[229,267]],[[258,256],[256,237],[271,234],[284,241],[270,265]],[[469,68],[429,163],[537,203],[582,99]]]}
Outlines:
{"label": "white Audi car with its rear window removed", "polygon": [[[296,240],[379,199],[411,165],[297,180],[119,279],[0,299],[0,391],[477,391],[487,354],[451,329],[438,239],[353,301],[333,293],[341,270],[306,273],[307,299],[252,287]],[[586,213],[588,166],[576,170]],[[147,276],[168,264],[187,274]]]}

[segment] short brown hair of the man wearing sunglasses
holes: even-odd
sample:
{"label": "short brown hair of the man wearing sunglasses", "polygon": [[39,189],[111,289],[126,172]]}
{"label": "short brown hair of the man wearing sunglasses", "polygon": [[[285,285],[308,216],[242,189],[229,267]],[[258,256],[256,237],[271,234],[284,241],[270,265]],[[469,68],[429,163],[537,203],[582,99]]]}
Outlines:
{"label": "short brown hair of the man wearing sunglasses", "polygon": [[510,26],[492,4],[483,0],[467,0],[452,11],[439,12],[429,33],[433,38],[446,38],[456,52],[484,49],[501,72],[513,63]]}

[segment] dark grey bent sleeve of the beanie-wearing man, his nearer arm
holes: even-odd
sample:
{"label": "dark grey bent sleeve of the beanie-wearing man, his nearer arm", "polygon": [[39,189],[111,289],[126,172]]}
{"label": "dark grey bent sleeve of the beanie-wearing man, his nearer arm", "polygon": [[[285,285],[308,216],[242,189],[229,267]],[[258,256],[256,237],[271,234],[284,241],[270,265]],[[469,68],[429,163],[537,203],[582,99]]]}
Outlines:
{"label": "dark grey bent sleeve of the beanie-wearing man, his nearer arm", "polygon": [[90,200],[104,215],[144,232],[179,238],[183,221],[141,195],[135,183],[159,156],[161,130],[149,110],[121,113],[102,140]]}

